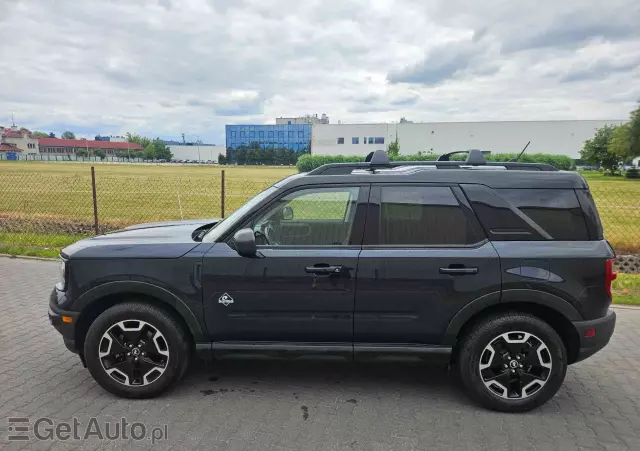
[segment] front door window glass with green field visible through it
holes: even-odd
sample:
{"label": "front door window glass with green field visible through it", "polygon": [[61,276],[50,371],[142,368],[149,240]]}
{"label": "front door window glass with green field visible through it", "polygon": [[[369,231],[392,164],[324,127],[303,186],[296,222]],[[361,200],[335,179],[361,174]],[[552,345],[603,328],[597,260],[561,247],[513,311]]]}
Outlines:
{"label": "front door window glass with green field visible through it", "polygon": [[311,188],[289,193],[252,221],[266,246],[347,246],[358,187]]}

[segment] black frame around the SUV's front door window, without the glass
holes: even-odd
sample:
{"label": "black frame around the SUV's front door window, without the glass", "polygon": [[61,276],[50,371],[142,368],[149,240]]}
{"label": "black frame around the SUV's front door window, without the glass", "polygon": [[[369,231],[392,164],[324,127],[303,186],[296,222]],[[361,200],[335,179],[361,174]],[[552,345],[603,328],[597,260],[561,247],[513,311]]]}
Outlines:
{"label": "black frame around the SUV's front door window, without the glass", "polygon": [[309,190],[313,188],[360,188],[358,193],[358,199],[356,199],[356,211],[353,218],[353,225],[351,226],[351,235],[349,236],[349,244],[314,244],[314,245],[258,245],[260,249],[361,249],[364,240],[364,231],[366,227],[366,220],[368,217],[369,209],[369,197],[371,193],[370,183],[326,183],[317,185],[299,185],[280,193],[277,193],[274,197],[263,203],[258,209],[249,212],[244,218],[237,222],[236,227],[232,228],[228,234],[221,237],[218,242],[224,242],[233,248],[233,236],[238,230],[248,227],[253,220],[270,209],[276,202],[279,202],[284,196],[297,191]]}

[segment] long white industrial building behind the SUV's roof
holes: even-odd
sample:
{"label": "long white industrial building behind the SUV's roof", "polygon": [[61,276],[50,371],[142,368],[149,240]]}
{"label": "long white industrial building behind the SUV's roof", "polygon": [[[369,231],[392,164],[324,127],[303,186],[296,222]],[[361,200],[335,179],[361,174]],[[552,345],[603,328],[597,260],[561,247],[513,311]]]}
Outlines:
{"label": "long white industrial building behind the SUV's roof", "polygon": [[367,155],[398,140],[400,153],[442,154],[481,149],[492,153],[550,153],[580,158],[584,141],[604,125],[625,120],[422,122],[378,124],[313,124],[314,155]]}

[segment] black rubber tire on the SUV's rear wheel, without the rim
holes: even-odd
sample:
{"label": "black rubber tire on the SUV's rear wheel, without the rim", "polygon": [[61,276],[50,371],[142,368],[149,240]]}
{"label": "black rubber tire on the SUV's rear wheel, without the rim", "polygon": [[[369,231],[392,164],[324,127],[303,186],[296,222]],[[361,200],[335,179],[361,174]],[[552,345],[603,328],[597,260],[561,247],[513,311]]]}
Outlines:
{"label": "black rubber tire on the SUV's rear wheel, without the rim", "polygon": [[[503,366],[503,362],[504,365],[511,363],[510,352],[501,354],[496,351],[495,356],[497,356],[498,359],[501,359],[496,361],[500,362],[500,365],[498,365],[497,363],[494,363],[493,359],[495,357],[492,357],[491,351],[486,351],[485,348],[490,344],[492,345],[491,349],[493,349],[493,345],[495,345],[496,348],[498,348],[498,345],[503,346],[499,341],[499,337],[507,332],[514,333],[515,331],[532,334],[534,338],[538,338],[539,341],[542,341],[548,350],[547,353],[544,351],[544,348],[538,348],[543,349],[542,352],[544,352],[544,359],[546,360],[543,363],[549,365],[550,362],[551,368],[543,368],[543,377],[546,376],[544,385],[538,386],[538,384],[534,384],[533,388],[535,391],[530,395],[526,393],[525,390],[518,390],[519,386],[517,382],[514,382],[513,385],[509,384],[509,387],[515,387],[515,389],[502,391],[502,393],[500,393],[500,388],[493,389],[493,386],[491,388],[487,387],[484,381],[489,380],[490,378],[487,377],[485,373],[486,379],[483,379],[483,375],[481,374],[481,363],[492,363],[493,365],[501,367]],[[524,335],[514,336],[510,334],[507,337],[523,338]],[[521,345],[504,343],[504,346],[526,347],[525,345],[526,343]],[[534,346],[537,346],[537,341],[534,341]],[[527,352],[531,352],[531,349],[533,348],[529,347]],[[508,357],[503,359],[503,355],[507,355]],[[526,412],[541,406],[556,394],[562,385],[567,372],[567,352],[564,343],[556,331],[540,318],[527,313],[502,313],[480,320],[462,338],[457,357],[459,376],[469,397],[484,407],[500,412]],[[506,360],[507,358],[509,358],[509,360]],[[520,358],[524,359],[525,357]],[[481,361],[481,359],[483,360]],[[542,361],[540,358],[538,358],[538,360]],[[511,367],[509,366],[508,368]],[[493,372],[493,369],[489,369],[489,371]],[[505,372],[511,372],[512,370],[505,369],[502,371],[503,372],[500,374],[504,375]],[[517,369],[513,371],[520,370]],[[526,371],[526,369],[523,371]],[[512,374],[510,376],[512,378],[511,380],[520,380],[516,379],[519,377],[519,374],[520,373]],[[524,380],[524,378],[522,380]],[[527,381],[529,380],[531,379],[528,378]],[[490,382],[488,383],[491,385]],[[520,398],[509,398],[509,396],[512,395],[518,396],[516,394],[518,391],[520,392]],[[525,397],[524,395],[527,396]]]}

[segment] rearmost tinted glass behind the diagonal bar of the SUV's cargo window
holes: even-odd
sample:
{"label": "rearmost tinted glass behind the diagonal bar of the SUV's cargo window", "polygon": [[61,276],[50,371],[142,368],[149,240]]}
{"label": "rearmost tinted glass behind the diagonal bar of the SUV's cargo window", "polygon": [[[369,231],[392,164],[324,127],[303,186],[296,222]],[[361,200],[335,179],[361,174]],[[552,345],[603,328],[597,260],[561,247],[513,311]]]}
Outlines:
{"label": "rearmost tinted glass behind the diagonal bar of the SUV's cargo window", "polygon": [[572,189],[499,189],[498,195],[558,241],[587,241],[589,233]]}

